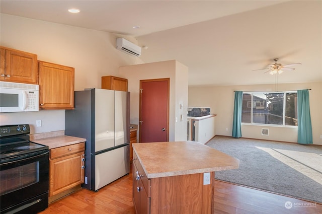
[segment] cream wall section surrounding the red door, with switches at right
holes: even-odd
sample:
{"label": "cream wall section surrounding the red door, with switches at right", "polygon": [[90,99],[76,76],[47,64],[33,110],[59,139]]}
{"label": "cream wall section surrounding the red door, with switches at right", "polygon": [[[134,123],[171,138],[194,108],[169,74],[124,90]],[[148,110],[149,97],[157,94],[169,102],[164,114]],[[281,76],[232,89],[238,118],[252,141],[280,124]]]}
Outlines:
{"label": "cream wall section surrounding the red door, with switches at right", "polygon": [[[139,124],[140,80],[170,78],[169,140],[187,139],[188,67],[176,60],[122,66],[120,75],[128,79],[131,92],[131,123]],[[180,109],[180,103],[183,109]],[[183,121],[180,115],[183,113]],[[176,118],[178,121],[176,122]]]}

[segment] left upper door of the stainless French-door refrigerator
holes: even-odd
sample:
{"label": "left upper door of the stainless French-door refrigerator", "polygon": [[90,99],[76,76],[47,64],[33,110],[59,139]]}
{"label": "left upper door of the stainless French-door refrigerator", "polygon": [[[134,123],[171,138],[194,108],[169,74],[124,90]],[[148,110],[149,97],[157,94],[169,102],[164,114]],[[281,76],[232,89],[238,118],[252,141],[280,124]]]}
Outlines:
{"label": "left upper door of the stainless French-door refrigerator", "polygon": [[114,91],[95,89],[95,152],[114,147]]}

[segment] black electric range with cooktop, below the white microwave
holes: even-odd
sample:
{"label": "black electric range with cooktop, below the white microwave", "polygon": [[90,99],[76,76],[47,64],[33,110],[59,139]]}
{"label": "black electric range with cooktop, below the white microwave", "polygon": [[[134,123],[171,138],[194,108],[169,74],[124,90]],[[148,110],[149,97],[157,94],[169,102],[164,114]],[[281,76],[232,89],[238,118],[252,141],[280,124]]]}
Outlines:
{"label": "black electric range with cooktop, below the white microwave", "polygon": [[30,141],[30,126],[0,126],[0,213],[48,207],[49,148]]}

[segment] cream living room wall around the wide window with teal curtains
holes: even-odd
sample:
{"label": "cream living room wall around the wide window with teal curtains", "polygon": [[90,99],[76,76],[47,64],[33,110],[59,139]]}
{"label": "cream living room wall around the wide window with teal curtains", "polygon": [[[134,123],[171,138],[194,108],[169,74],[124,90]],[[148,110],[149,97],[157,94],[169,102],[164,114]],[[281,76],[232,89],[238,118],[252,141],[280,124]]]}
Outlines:
{"label": "cream living room wall around the wide window with teal curtains", "polygon": [[[309,91],[309,96],[313,144],[322,145],[322,138],[320,138],[320,135],[322,135],[322,82],[278,84],[278,91],[291,91],[300,89],[312,89]],[[217,114],[215,130],[216,135],[231,136],[234,90],[274,91],[275,85],[273,84],[222,87],[191,86],[188,88],[189,106],[207,106],[211,108],[210,114]],[[263,127],[269,128],[269,136],[261,135],[261,129]],[[241,134],[243,137],[248,138],[297,142],[297,127],[290,128],[262,125],[242,125]]]}

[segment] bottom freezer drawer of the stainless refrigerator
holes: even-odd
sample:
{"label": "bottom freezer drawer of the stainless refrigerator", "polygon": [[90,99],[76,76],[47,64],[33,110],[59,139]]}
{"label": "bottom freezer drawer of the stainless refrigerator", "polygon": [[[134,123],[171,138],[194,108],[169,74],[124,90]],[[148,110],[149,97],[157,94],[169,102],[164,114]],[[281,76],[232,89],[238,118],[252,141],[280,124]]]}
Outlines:
{"label": "bottom freezer drawer of the stainless refrigerator", "polygon": [[95,191],[130,172],[130,146],[95,156]]}

